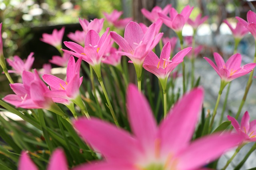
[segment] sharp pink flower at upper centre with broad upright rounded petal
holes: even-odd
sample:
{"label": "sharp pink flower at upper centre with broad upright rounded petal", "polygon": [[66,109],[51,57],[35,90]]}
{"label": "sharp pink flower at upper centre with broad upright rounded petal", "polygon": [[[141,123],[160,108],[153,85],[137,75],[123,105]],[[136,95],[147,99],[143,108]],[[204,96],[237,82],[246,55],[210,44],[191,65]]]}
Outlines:
{"label": "sharp pink flower at upper centre with broad upright rounded petal", "polygon": [[116,32],[111,31],[112,39],[121,47],[124,52],[118,52],[119,55],[126,55],[134,64],[141,65],[146,58],[146,55],[160,41],[163,33],[158,33],[155,36],[156,24],[153,23],[144,34],[140,25],[131,21],[125,28],[124,38]]}

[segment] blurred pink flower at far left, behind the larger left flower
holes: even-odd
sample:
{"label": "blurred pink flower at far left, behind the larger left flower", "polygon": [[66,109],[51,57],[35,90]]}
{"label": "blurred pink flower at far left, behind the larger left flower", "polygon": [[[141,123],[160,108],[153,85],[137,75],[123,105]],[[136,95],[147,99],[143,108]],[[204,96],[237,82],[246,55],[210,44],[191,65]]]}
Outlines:
{"label": "blurred pink flower at far left, behind the larger left flower", "polygon": [[19,75],[22,75],[22,72],[24,70],[26,71],[30,71],[32,68],[32,65],[34,63],[34,57],[33,57],[34,53],[30,53],[28,55],[28,58],[26,59],[26,61],[24,62],[22,59],[20,59],[20,57],[18,57],[17,55],[15,55],[13,57],[13,60],[11,59],[6,59],[7,63],[12,66],[12,68],[14,70],[8,70],[9,73],[16,73]]}

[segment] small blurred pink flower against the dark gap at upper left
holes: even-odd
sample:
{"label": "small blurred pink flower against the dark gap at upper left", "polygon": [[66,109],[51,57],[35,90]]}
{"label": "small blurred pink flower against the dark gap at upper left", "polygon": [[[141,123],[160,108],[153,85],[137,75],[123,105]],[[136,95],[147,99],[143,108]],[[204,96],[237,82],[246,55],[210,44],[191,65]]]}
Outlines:
{"label": "small blurred pink flower against the dark gap at upper left", "polygon": [[62,27],[60,31],[54,29],[52,31],[52,34],[43,33],[42,38],[40,40],[59,49],[62,46],[62,38],[64,35],[64,31],[65,27]]}

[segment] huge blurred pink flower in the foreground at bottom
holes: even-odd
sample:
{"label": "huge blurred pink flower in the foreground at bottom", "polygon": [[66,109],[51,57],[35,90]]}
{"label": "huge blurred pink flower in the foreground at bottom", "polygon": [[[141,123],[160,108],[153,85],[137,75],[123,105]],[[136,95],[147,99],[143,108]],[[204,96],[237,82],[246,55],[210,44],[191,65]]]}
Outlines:
{"label": "huge blurred pink flower in the foreground at bottom", "polygon": [[159,126],[146,98],[134,85],[128,86],[127,94],[133,134],[96,118],[74,121],[84,140],[106,158],[75,170],[193,170],[242,140],[238,134],[223,133],[191,141],[202,108],[202,88],[185,94]]}

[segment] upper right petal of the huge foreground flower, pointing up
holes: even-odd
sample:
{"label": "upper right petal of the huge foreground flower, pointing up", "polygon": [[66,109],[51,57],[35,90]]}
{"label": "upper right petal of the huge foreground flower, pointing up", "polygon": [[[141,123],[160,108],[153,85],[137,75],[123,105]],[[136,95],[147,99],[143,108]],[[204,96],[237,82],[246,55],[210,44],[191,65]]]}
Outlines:
{"label": "upper right petal of the huge foreground flower, pointing up", "polygon": [[158,132],[163,154],[177,152],[188,145],[198,121],[203,98],[202,88],[196,88],[185,94],[160,123]]}

